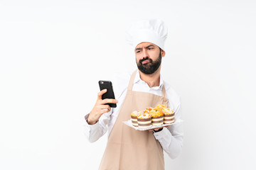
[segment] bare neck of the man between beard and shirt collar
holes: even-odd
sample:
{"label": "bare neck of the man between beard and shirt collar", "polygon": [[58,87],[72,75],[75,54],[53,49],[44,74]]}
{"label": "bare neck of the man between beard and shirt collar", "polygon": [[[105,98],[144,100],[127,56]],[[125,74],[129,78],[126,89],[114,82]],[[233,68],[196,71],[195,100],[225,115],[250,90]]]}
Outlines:
{"label": "bare neck of the man between beard and shirt collar", "polygon": [[160,68],[156,70],[153,74],[144,74],[143,72],[139,71],[140,78],[149,85],[149,87],[159,86],[160,84]]}

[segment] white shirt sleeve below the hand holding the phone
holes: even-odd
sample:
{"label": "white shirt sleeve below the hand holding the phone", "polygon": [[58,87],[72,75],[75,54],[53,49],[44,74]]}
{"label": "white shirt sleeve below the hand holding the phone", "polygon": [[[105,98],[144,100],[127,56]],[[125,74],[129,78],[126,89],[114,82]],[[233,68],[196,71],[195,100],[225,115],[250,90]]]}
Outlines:
{"label": "white shirt sleeve below the hand holding the phone", "polygon": [[110,112],[104,113],[97,121],[97,123],[95,123],[95,125],[89,125],[87,123],[87,118],[89,114],[85,115],[84,133],[89,142],[95,142],[100,137],[105,135],[105,133],[107,132],[107,124],[110,121],[110,115],[112,114],[112,110],[113,109],[111,108]]}

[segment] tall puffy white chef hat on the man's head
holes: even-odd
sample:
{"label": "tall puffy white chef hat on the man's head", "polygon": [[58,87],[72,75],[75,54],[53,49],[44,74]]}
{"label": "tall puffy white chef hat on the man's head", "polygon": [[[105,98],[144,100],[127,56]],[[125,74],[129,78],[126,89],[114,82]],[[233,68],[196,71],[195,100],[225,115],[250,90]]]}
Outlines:
{"label": "tall puffy white chef hat on the man's head", "polygon": [[151,42],[164,50],[164,40],[167,38],[167,33],[166,25],[159,19],[140,20],[129,26],[126,39],[134,49],[141,42]]}

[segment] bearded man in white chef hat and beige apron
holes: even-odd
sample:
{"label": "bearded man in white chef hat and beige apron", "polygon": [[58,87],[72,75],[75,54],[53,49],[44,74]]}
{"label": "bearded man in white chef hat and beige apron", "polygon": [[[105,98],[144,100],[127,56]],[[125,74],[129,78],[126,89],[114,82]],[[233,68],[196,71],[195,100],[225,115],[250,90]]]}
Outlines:
{"label": "bearded man in white chef hat and beige apron", "polygon": [[[113,84],[115,99],[102,100],[98,93],[92,111],[85,115],[85,135],[90,142],[108,131],[108,141],[99,169],[164,169],[164,151],[174,159],[181,153],[183,129],[181,103],[174,89],[161,77],[161,59],[165,57],[167,28],[159,20],[137,21],[127,30],[127,40],[134,48],[138,70]],[[128,81],[127,81],[128,80]],[[117,103],[111,109],[105,103]],[[122,123],[132,111],[164,104],[176,111],[176,123],[161,129],[134,130]]]}

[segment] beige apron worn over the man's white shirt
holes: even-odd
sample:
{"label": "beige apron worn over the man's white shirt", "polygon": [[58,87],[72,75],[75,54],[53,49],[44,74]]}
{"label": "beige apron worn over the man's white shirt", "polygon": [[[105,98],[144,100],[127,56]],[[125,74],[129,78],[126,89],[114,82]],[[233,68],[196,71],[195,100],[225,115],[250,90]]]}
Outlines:
{"label": "beige apron worn over the man's white shirt", "polygon": [[122,123],[131,118],[133,111],[143,111],[161,103],[168,105],[163,86],[162,96],[132,91],[136,72],[132,74],[127,95],[107,141],[100,169],[164,169],[164,154],[153,132],[134,130]]}

